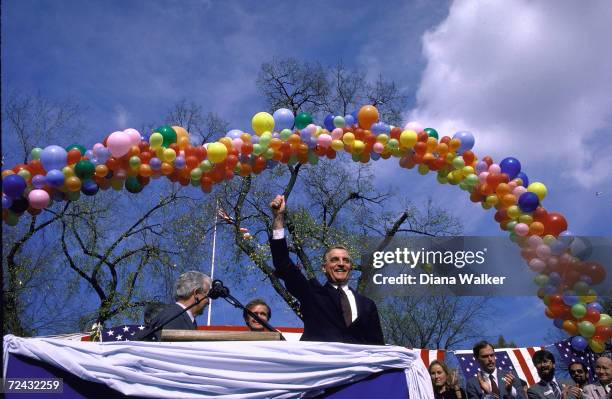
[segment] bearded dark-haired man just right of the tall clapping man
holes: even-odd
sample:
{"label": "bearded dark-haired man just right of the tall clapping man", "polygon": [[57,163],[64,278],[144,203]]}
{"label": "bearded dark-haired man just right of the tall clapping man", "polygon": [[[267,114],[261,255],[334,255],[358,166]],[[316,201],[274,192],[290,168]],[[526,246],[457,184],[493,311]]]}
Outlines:
{"label": "bearded dark-haired man just right of the tall clapping man", "polygon": [[[531,357],[538,371],[540,381],[527,390],[529,399],[574,399],[574,393],[580,395],[578,389],[571,390],[567,381],[557,381],[555,378],[555,357],[549,351],[536,351]],[[574,387],[575,388],[575,387]]]}

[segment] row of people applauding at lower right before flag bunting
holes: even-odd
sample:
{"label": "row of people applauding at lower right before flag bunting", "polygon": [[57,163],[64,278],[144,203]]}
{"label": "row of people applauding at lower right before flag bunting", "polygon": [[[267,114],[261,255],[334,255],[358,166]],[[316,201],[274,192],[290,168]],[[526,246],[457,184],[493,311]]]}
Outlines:
{"label": "row of people applauding at lower right before flag bunting", "polygon": [[473,348],[480,371],[460,385],[456,370],[450,370],[444,362],[434,360],[429,365],[429,375],[436,399],[609,399],[612,398],[612,360],[600,356],[595,363],[596,380],[589,383],[588,370],[581,362],[571,363],[568,372],[571,381],[558,380],[555,376],[556,361],[547,350],[536,351],[532,356],[540,380],[528,386],[516,372],[500,372],[496,367],[495,348],[487,341],[480,341]]}

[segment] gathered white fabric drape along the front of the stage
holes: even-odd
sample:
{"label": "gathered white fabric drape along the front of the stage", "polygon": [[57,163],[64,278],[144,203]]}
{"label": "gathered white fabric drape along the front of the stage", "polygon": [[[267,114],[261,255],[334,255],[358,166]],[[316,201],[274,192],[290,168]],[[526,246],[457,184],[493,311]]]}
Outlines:
{"label": "gathered white fabric drape along the front of the stage", "polygon": [[[410,399],[433,399],[419,351],[321,342],[74,342],[4,337],[7,352],[126,395],[156,398],[312,397],[372,373],[405,369]],[[7,359],[5,356],[4,375]]]}

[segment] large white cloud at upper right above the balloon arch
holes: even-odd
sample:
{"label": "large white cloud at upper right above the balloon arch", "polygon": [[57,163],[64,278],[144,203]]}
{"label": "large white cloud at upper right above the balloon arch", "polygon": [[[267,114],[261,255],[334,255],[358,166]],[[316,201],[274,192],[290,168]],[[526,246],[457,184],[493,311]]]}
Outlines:
{"label": "large white cloud at upper right above the balloon arch", "polygon": [[427,66],[407,118],[472,131],[480,156],[601,184],[612,178],[612,145],[598,137],[612,130],[610,26],[604,0],[456,1],[423,37]]}

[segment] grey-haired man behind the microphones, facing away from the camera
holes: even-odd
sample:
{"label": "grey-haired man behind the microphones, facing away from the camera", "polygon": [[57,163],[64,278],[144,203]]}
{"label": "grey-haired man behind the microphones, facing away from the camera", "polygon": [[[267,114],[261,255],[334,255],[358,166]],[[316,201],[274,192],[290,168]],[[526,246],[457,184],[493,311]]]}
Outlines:
{"label": "grey-haired man behind the microphones, facing away from the camera", "polygon": [[[210,286],[211,279],[204,273],[190,271],[181,274],[174,284],[174,299],[176,302],[167,305],[165,309],[153,317],[149,328],[140,334],[142,336],[141,339],[159,341],[161,330],[153,335],[146,336],[149,332],[165,323],[167,324],[164,325],[163,329],[195,330],[197,328],[196,316],[201,315],[204,308],[208,305],[209,299],[206,294],[208,294]],[[195,306],[191,309],[175,317],[193,304],[195,304]]]}

